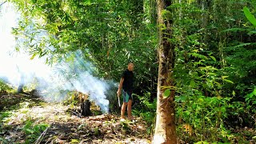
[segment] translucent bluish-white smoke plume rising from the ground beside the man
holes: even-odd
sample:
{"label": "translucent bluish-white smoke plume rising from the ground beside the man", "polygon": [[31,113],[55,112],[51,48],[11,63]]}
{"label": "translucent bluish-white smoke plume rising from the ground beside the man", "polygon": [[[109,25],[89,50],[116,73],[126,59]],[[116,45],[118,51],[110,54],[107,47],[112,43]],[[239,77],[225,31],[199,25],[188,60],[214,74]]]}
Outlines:
{"label": "translucent bluish-white smoke plume rising from the ground beside the man", "polygon": [[[96,68],[86,62],[82,51],[77,50],[74,53],[68,54],[72,58],[69,62],[62,61],[53,66],[53,70],[47,78],[42,78],[39,81],[40,86],[37,90],[44,91],[45,99],[51,101],[65,99],[68,91],[79,91],[83,94],[88,94],[89,99],[100,106],[103,112],[108,112],[109,101],[106,99],[106,91],[109,90],[109,85],[103,79],[93,76]],[[57,95],[57,99],[53,99],[52,95]]]}

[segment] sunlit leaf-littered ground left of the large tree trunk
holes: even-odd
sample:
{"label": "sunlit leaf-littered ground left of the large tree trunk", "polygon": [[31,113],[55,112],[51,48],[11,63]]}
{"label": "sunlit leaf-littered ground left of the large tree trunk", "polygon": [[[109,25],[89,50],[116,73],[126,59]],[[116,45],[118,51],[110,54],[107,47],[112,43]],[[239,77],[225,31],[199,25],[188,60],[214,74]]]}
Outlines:
{"label": "sunlit leaf-littered ground left of the large tree trunk", "polygon": [[118,114],[99,114],[96,106],[93,115],[80,117],[76,107],[28,94],[0,100],[0,143],[150,143],[141,118],[121,122]]}

